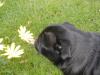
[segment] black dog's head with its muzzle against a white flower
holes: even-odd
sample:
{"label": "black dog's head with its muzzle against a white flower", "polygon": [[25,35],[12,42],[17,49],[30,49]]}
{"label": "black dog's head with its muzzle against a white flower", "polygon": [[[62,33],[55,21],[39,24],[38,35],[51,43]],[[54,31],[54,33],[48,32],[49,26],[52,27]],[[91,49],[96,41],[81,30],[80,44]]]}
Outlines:
{"label": "black dog's head with its muzzle against a white flower", "polygon": [[39,35],[35,47],[54,64],[62,64],[64,60],[71,58],[69,36],[63,26],[49,26]]}

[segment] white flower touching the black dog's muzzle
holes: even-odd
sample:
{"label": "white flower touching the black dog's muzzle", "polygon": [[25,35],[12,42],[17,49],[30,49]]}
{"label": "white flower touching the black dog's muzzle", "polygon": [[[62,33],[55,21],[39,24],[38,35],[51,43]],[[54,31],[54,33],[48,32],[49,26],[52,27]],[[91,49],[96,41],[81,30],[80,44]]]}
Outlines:
{"label": "white flower touching the black dog's muzzle", "polygon": [[30,33],[30,31],[27,31],[25,26],[20,26],[18,32],[19,32],[19,37],[22,40],[26,41],[27,43],[34,44],[35,39],[33,37],[33,34]]}

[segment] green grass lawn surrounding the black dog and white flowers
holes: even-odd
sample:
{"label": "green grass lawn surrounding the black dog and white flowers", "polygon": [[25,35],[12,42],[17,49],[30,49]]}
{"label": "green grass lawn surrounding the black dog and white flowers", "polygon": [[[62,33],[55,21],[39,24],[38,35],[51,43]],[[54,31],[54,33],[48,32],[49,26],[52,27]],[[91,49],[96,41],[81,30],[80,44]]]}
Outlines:
{"label": "green grass lawn surrounding the black dog and white flowers", "polygon": [[20,40],[17,32],[20,25],[36,37],[48,24],[66,21],[84,31],[100,31],[100,0],[4,1],[0,7],[0,37],[6,44],[21,44],[25,53],[19,59],[0,58],[0,75],[62,75],[33,46]]}

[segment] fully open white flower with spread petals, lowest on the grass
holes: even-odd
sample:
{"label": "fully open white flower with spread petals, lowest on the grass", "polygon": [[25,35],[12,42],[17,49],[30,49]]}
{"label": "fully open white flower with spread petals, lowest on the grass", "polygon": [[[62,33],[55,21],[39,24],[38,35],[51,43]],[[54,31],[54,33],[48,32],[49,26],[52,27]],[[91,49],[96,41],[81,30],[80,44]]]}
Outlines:
{"label": "fully open white flower with spread petals, lowest on the grass", "polygon": [[20,47],[20,45],[15,46],[15,43],[12,43],[11,46],[7,46],[5,53],[1,55],[8,56],[8,59],[21,57],[21,55],[24,53],[24,50],[20,49]]}

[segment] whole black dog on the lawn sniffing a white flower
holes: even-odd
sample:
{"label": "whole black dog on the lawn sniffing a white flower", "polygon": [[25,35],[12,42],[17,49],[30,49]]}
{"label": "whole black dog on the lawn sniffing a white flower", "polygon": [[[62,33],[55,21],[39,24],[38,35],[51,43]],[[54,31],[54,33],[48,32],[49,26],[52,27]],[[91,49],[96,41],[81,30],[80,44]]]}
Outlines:
{"label": "whole black dog on the lawn sniffing a white flower", "polygon": [[64,75],[100,75],[100,35],[83,32],[69,23],[48,26],[35,47]]}

